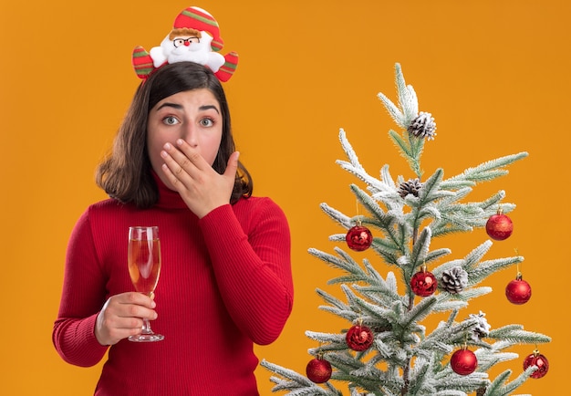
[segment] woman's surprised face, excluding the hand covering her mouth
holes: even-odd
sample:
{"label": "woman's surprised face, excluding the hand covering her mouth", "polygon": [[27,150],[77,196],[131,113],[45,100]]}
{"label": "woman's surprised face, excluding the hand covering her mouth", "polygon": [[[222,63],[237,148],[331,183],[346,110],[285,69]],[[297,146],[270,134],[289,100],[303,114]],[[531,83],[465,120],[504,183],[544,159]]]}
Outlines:
{"label": "woman's surprised face, excluding the hand covering her mouth", "polygon": [[182,91],[162,99],[149,112],[147,124],[152,169],[172,188],[161,171],[161,151],[165,143],[177,147],[177,139],[186,141],[212,165],[222,141],[222,127],[220,103],[208,89]]}

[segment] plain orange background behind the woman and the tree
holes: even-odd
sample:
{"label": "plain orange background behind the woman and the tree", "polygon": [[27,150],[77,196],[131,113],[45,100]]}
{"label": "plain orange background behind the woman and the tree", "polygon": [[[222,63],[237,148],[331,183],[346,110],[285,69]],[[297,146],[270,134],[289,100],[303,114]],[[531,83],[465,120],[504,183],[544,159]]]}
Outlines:
{"label": "plain orange background behind the woman and the tree", "polygon": [[[303,372],[306,349],[316,347],[306,329],[347,328],[317,308],[315,288],[337,293],[326,285],[337,271],[306,250],[332,252],[328,235],[343,232],[319,203],[356,210],[348,184],[357,181],[335,164],[344,159],[339,128],[370,174],[389,163],[393,176],[412,177],[389,141],[395,126],[376,98],[381,91],[395,99],[393,69],[400,62],[420,109],[438,126],[423,157],[427,176],[438,167],[452,177],[503,155],[530,154],[508,177],[477,187],[470,200],[504,189],[506,201],[517,204],[514,234],[485,258],[517,249],[534,295],[524,306],[507,302],[504,286],[515,268],[506,270],[486,283],[493,293],[461,317],[482,309],[493,328],[521,323],[550,335],[553,342],[539,346],[549,373],[516,393],[561,394],[569,355],[565,0],[3,2],[0,394],[92,394],[100,368],[67,365],[51,344],[67,238],[88,204],[105,198],[93,173],[139,83],[132,48],[159,45],[188,5],[209,10],[221,25],[223,52],[240,54],[226,84],[238,149],[254,174],[254,193],[273,197],[291,226],[295,308],[281,338],[256,347],[258,357]],[[460,258],[486,239],[476,230],[437,245]],[[386,273],[379,257],[359,255]],[[534,348],[514,349],[521,359],[500,369],[512,368],[514,378]],[[261,393],[271,394],[269,373],[257,374]]]}

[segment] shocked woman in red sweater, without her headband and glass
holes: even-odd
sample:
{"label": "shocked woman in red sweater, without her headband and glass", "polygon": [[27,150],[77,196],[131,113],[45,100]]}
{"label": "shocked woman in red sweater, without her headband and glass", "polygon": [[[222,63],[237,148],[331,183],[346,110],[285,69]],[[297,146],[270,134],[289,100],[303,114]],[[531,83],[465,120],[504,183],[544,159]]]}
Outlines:
{"label": "shocked woman in red sweater, without her headband and glass", "polygon": [[[111,197],[69,241],[53,341],[69,363],[103,366],[96,395],[255,395],[253,344],[273,342],[293,304],[285,214],[254,197],[234,151],[220,80],[193,62],[137,89],[97,182]],[[156,225],[155,297],[134,292],[128,230]],[[164,335],[136,343],[142,319]],[[110,347],[109,347],[110,346]]]}

